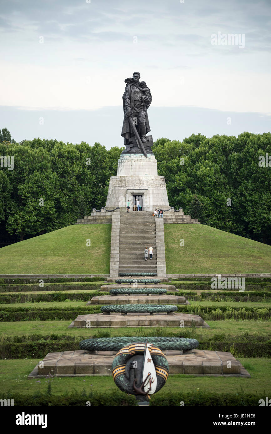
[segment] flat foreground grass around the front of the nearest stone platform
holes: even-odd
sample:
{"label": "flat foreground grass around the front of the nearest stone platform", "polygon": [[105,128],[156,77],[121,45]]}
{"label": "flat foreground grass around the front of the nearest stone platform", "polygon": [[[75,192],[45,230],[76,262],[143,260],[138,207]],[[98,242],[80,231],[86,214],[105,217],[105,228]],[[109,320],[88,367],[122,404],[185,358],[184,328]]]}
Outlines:
{"label": "flat foreground grass around the front of the nearest stone platform", "polygon": [[[196,377],[193,375],[169,375],[165,386],[159,391],[164,392],[192,392],[209,391],[211,393],[262,393],[263,396],[271,395],[270,360],[265,358],[239,358],[242,365],[248,370],[251,378],[240,377]],[[27,375],[37,365],[39,359],[29,360],[3,360],[0,371],[1,393],[9,391],[23,394],[34,394],[37,391],[46,392],[48,380],[46,378],[27,379]],[[55,377],[51,381],[52,394],[63,395],[65,392],[80,392],[83,389],[95,392],[107,392],[116,390],[116,385],[111,376],[86,376],[75,378]],[[269,394],[269,395],[268,395]]]}

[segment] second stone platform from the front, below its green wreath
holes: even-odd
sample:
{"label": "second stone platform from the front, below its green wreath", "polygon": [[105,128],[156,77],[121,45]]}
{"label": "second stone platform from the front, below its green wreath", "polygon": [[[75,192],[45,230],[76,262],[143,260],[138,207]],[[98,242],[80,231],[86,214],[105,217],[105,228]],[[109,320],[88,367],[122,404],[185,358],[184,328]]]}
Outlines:
{"label": "second stone platform from the front, below its green wreath", "polygon": [[127,313],[125,314],[104,314],[90,313],[79,315],[69,325],[69,328],[92,328],[92,327],[209,327],[209,325],[199,316],[188,313]]}

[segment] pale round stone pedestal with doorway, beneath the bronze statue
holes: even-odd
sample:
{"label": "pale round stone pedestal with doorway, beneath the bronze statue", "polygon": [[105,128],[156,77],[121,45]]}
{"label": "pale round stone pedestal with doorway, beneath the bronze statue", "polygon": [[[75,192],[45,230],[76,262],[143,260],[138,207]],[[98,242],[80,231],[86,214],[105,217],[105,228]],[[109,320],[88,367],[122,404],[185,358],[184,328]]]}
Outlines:
{"label": "pale round stone pedestal with doorway, beneath the bronze statue", "polygon": [[153,211],[155,207],[169,208],[165,178],[158,176],[154,155],[120,155],[117,173],[110,178],[107,209],[120,207],[120,210],[126,210],[126,202],[132,201],[133,194],[142,195],[143,211]]}

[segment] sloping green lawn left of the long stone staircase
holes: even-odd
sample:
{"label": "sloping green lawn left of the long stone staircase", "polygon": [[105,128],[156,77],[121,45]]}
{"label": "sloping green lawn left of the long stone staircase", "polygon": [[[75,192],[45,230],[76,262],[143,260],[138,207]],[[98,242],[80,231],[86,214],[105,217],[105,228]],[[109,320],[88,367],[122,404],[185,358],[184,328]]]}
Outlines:
{"label": "sloping green lawn left of the long stone staircase", "polygon": [[63,227],[2,247],[1,274],[109,274],[110,243],[110,224]]}

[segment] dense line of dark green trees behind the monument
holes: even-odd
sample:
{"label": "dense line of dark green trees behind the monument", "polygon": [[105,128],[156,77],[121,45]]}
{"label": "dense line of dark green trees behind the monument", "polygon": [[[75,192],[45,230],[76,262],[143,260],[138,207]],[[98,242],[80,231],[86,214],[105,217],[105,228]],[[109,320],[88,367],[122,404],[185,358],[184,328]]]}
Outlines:
{"label": "dense line of dark green trees behind the monument", "polygon": [[[23,240],[105,206],[124,148],[40,138],[18,144],[6,131],[5,137],[0,156],[14,156],[14,168],[0,167],[0,237]],[[271,167],[259,165],[261,156],[271,156],[271,133],[160,138],[152,150],[170,206],[203,224],[271,244]]]}

